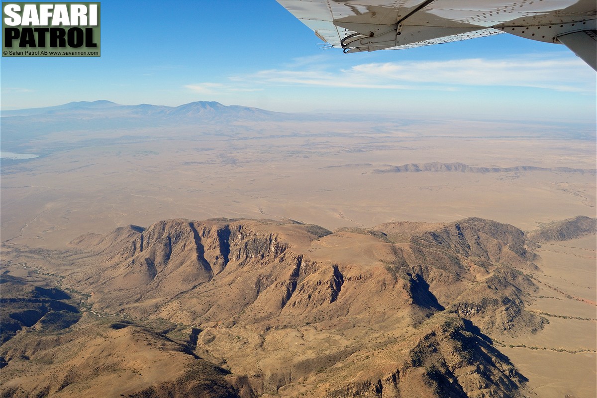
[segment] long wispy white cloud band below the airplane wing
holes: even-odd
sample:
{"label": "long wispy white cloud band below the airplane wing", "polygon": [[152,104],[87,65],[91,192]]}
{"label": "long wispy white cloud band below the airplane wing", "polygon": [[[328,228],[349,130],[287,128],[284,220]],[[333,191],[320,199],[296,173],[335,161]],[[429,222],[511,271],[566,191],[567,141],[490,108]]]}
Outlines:
{"label": "long wispy white cloud band below the airplane wing", "polygon": [[261,70],[232,81],[260,85],[309,85],[392,90],[458,90],[463,86],[534,87],[595,92],[595,72],[580,59],[554,55],[489,60],[401,61],[347,69],[304,65]]}

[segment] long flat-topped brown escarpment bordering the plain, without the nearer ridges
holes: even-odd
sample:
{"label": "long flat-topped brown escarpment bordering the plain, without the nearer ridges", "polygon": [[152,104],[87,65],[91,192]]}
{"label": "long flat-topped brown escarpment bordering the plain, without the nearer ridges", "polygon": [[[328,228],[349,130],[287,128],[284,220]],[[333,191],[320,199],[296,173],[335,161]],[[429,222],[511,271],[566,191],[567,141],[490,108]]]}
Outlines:
{"label": "long flat-topped brown escarpment bordering the plain, without the nearer ridges", "polygon": [[[378,235],[314,230],[252,220],[160,221],[116,234],[127,243],[112,251],[100,244],[107,267],[78,282],[93,289],[91,302],[103,311],[197,326],[338,327],[387,322],[396,309],[417,323],[447,308],[490,332],[516,329],[512,321],[521,316],[525,327],[540,328],[523,309],[533,283],[518,269],[533,269],[533,254],[515,227],[469,218],[383,224],[373,229]],[[365,252],[351,253],[352,246]]]}

